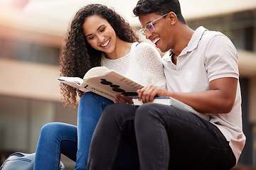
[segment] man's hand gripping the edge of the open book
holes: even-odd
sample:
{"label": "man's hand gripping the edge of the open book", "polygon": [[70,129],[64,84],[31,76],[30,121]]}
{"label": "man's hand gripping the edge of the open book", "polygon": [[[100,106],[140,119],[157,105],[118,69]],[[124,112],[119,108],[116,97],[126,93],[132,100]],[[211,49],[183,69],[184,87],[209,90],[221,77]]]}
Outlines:
{"label": "man's hand gripping the edge of the open book", "polygon": [[139,101],[142,100],[143,103],[149,103],[154,100],[156,96],[166,97],[169,96],[169,91],[161,89],[159,86],[145,86],[142,89],[137,90]]}

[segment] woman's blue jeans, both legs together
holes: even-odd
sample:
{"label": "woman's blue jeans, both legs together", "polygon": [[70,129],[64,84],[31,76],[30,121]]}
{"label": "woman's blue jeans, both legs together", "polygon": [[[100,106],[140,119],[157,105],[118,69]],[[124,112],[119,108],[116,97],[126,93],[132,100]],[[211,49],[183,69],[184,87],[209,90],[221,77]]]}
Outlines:
{"label": "woman's blue jeans, both legs together", "polygon": [[58,169],[60,154],[76,161],[76,169],[86,169],[92,134],[102,111],[112,103],[87,92],[78,106],[78,127],[65,123],[44,125],[36,148],[34,169]]}

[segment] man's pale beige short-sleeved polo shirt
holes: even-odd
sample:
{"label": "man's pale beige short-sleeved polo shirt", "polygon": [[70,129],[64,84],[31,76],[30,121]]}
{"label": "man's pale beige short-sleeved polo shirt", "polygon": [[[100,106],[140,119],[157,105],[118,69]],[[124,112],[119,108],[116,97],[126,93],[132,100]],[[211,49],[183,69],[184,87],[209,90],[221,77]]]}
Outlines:
{"label": "man's pale beige short-sleeved polo shirt", "polygon": [[[171,53],[163,57],[164,73],[169,91],[193,93],[207,91],[214,79],[234,77],[239,79],[238,55],[233,43],[222,33],[209,31],[202,26],[193,33],[188,45],[177,57],[176,65],[171,62]],[[230,142],[236,160],[245,145],[242,132],[240,84],[235,104],[228,114],[208,114],[210,123],[216,125]]]}

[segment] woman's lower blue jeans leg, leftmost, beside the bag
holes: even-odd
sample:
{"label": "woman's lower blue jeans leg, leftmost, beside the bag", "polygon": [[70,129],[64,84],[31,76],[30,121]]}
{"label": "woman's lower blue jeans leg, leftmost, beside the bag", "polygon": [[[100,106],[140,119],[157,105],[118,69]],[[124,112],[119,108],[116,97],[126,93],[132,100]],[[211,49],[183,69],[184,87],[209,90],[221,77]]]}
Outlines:
{"label": "woman's lower blue jeans leg, leftmost, beside the bag", "polygon": [[78,150],[78,132],[75,125],[48,123],[41,128],[36,157],[35,170],[59,169],[60,154],[73,161]]}

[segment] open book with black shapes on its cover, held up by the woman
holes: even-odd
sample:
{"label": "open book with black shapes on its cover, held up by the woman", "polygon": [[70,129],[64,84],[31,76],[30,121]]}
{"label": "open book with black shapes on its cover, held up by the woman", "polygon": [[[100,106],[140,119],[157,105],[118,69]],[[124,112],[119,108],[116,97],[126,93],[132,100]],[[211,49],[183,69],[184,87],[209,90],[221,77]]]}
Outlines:
{"label": "open book with black shapes on its cover, held up by the woman", "polygon": [[59,77],[58,81],[80,91],[92,91],[112,101],[114,101],[115,94],[123,94],[133,98],[137,96],[137,89],[144,87],[112,69],[107,69],[107,67],[93,67],[88,70],[83,79],[80,77]]}

